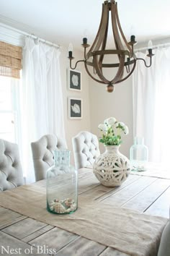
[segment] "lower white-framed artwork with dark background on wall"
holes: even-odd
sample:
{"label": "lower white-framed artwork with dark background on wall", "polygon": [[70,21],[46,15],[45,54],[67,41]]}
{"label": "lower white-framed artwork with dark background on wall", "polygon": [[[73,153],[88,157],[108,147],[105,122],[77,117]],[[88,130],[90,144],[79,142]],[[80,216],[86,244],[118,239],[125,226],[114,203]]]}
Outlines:
{"label": "lower white-framed artwork with dark background on wall", "polygon": [[70,119],[82,119],[82,99],[68,98],[68,117]]}

